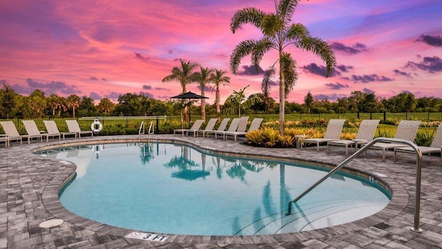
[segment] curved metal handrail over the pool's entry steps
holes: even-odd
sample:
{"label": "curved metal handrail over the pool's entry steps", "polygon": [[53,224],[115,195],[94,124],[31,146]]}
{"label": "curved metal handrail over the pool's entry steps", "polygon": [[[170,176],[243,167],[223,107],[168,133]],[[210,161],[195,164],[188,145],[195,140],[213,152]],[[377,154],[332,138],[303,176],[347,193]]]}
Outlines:
{"label": "curved metal handrail over the pool's entry steps", "polygon": [[416,194],[414,196],[414,226],[411,228],[414,232],[422,232],[422,229],[419,228],[419,214],[420,214],[420,206],[421,206],[421,170],[422,170],[422,153],[419,147],[415,145],[412,141],[405,140],[405,139],[399,139],[399,138],[375,138],[371,142],[369,142],[367,145],[356,151],[352,156],[349,156],[349,158],[345,159],[343,163],[340,163],[340,165],[336,166],[334,169],[332,169],[327,175],[325,175],[323,178],[320,178],[319,181],[314,183],[314,185],[311,185],[307,190],[302,192],[298,197],[296,197],[293,201],[289,201],[289,208],[286,215],[291,214],[291,206],[293,203],[296,203],[299,201],[303,196],[308,194],[311,190],[313,190],[316,186],[318,186],[320,183],[325,181],[329,176],[332,176],[332,174],[338,172],[339,169],[347,165],[351,160],[362,154],[364,151],[366,151],[369,147],[374,145],[376,142],[395,142],[395,143],[401,143],[405,145],[410,145],[412,149],[416,152]]}

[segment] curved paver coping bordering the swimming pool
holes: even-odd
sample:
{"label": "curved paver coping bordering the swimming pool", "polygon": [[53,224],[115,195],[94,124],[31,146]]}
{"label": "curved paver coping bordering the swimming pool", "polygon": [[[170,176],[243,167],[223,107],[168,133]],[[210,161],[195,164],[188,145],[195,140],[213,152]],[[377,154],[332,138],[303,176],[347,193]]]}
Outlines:
{"label": "curved paver coping bordering the swimming pool", "polygon": [[[184,140],[180,137],[166,137],[162,138],[162,135],[156,135],[153,136],[154,142],[172,142],[172,141],[178,141],[180,143],[186,144],[186,145],[192,145],[193,147],[198,147],[199,149],[208,149],[209,151],[215,151],[220,152],[221,154],[230,154],[233,155],[234,153],[229,151],[218,151],[217,149],[206,147],[204,148],[202,145],[198,145],[196,142],[192,140]],[[128,137],[128,138],[112,138],[111,136],[106,137],[94,137],[94,138],[88,138],[87,140],[75,140],[75,141],[62,141],[62,142],[52,142],[50,144],[46,144],[43,146],[37,146],[37,148],[34,148],[30,150],[31,154],[34,151],[38,151],[41,149],[48,149],[48,148],[55,148],[55,147],[66,147],[66,146],[77,146],[77,145],[91,145],[96,143],[112,143],[112,142],[147,142],[146,139],[140,140],[138,137]],[[246,146],[246,145],[243,145]],[[242,156],[257,156],[257,154],[242,154]],[[260,155],[262,156],[262,154]],[[267,155],[271,156],[271,155]],[[276,156],[272,156],[273,158],[279,158]],[[331,162],[324,162],[324,161],[318,161],[314,159],[305,160],[305,158],[296,158],[296,155],[294,156],[287,156],[287,158],[284,158],[285,160],[297,160],[301,162],[306,163],[319,163],[322,165],[335,165]],[[58,161],[54,158],[48,158],[48,160]],[[60,162],[59,162],[60,163]],[[62,163],[60,163],[62,165]],[[64,165],[66,166],[66,169],[64,169],[63,172],[57,174],[48,185],[44,187],[44,190],[42,192],[42,203],[46,210],[52,216],[55,216],[57,219],[63,219],[64,221],[79,226],[80,228],[92,230],[94,232],[99,233],[106,233],[115,235],[118,237],[125,237],[127,234],[131,232],[146,232],[146,231],[137,231],[137,230],[131,230],[126,228],[118,228],[113,225],[107,225],[104,223],[99,223],[97,221],[92,221],[90,219],[86,219],[84,217],[78,216],[77,214],[74,214],[66,208],[64,208],[63,205],[61,205],[58,194],[59,190],[61,190],[61,187],[69,181],[69,179],[75,174],[76,165],[72,163],[72,165]],[[353,167],[347,167],[349,169],[354,170],[354,172],[361,172],[363,174],[366,174],[367,176],[373,176],[372,172],[365,172],[361,169],[356,169]],[[346,232],[351,232],[354,230],[361,230],[365,228],[370,227],[376,227],[376,225],[379,225],[385,221],[388,221],[405,210],[407,208],[407,205],[409,204],[410,195],[408,194],[407,190],[405,190],[405,187],[395,181],[390,176],[376,176],[379,180],[383,181],[387,187],[390,188],[392,192],[392,199],[390,200],[390,203],[380,212],[377,212],[376,214],[373,214],[371,216],[367,216],[363,219],[352,221],[350,223],[343,223],[340,225],[334,225],[329,228],[320,228],[318,230],[309,230],[309,231],[302,231],[302,232],[290,232],[290,233],[284,233],[284,234],[268,234],[268,235],[242,235],[242,236],[224,236],[224,235],[189,235],[186,236],[186,234],[164,234],[160,232],[151,232],[155,234],[163,234],[168,235],[169,238],[166,242],[171,243],[238,243],[238,244],[249,244],[249,243],[283,243],[287,241],[301,241],[305,239],[315,239],[318,237],[327,237],[332,234],[333,236],[336,236],[338,234],[345,234]],[[404,198],[407,196],[407,198]],[[146,232],[147,233],[147,232]],[[127,238],[125,238],[127,239]],[[157,242],[157,243],[163,243],[163,242]]]}

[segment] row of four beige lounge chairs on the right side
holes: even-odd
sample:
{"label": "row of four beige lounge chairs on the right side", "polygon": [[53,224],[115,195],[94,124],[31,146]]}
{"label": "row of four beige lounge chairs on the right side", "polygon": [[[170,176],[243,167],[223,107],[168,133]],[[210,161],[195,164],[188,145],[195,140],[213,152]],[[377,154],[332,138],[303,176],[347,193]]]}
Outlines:
{"label": "row of four beige lounge chairs on the right side", "polygon": [[[380,120],[363,120],[358,129],[358,133],[355,139],[342,140],[339,139],[339,137],[343,129],[345,120],[332,119],[329,121],[329,124],[327,125],[327,130],[325,131],[325,135],[323,138],[307,138],[302,140],[302,143],[304,143],[305,145],[309,143],[316,143],[316,148],[319,151],[320,143],[327,142],[328,153],[330,152],[330,149],[333,146],[344,146],[345,154],[348,155],[348,147],[354,147],[356,151],[356,149],[358,149],[359,146],[363,147],[367,145],[368,142],[373,140],[374,133],[376,133],[376,128],[378,126],[379,121]],[[421,121],[402,120],[398,124],[398,128],[396,129],[394,138],[399,138],[403,140],[409,140],[410,142],[414,142],[414,138],[416,138],[416,133],[417,130],[419,129],[419,125],[421,125]],[[397,152],[414,152],[414,150],[408,145],[403,145],[394,142],[376,142],[370,148],[381,149],[383,159],[385,159],[385,154],[389,149],[394,150],[394,159],[396,159]],[[442,124],[440,124],[438,129],[436,130],[436,135],[432,140],[432,144],[429,147],[419,146],[419,149],[421,150],[422,154],[441,153],[442,157],[442,151],[441,151]]]}

